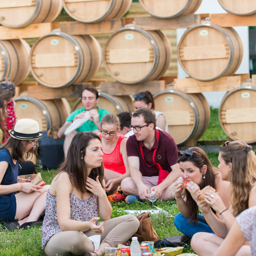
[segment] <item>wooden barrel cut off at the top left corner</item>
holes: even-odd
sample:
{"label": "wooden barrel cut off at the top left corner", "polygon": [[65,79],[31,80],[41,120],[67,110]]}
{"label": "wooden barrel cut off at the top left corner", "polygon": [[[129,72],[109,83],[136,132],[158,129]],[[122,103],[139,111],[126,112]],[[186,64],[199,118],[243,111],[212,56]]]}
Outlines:
{"label": "wooden barrel cut off at the top left corner", "polygon": [[10,28],[24,28],[32,23],[52,22],[61,9],[61,0],[0,1],[0,24]]}

